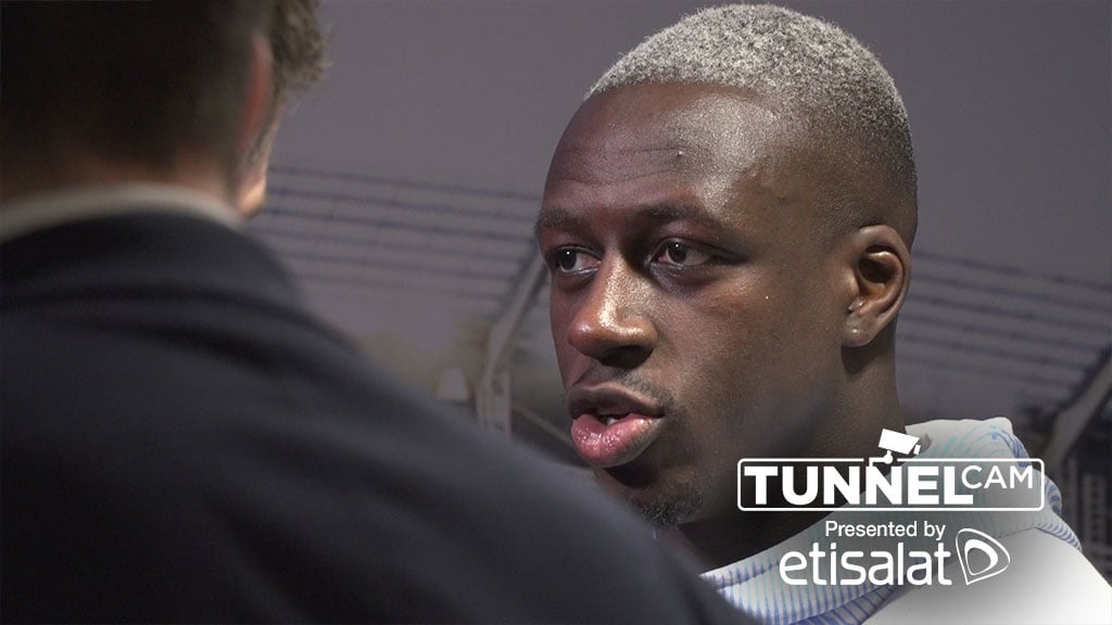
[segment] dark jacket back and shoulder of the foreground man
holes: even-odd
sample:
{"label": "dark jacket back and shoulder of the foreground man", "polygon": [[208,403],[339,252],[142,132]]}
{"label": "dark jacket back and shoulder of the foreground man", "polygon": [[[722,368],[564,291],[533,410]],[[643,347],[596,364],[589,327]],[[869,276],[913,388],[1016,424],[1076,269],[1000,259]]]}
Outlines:
{"label": "dark jacket back and shoulder of the foreground man", "polygon": [[[193,245],[259,252],[225,235]],[[741,618],[588,485],[364,360],[267,261],[218,279],[185,256],[146,290],[107,270],[159,254],[142,240],[105,288],[26,277],[3,307],[4,619]]]}

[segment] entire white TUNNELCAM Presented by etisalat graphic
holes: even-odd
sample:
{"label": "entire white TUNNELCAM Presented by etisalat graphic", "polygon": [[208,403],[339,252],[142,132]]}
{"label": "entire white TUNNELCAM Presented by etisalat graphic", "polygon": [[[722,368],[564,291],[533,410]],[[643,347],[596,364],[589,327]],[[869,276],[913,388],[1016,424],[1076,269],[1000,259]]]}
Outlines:
{"label": "entire white TUNNELCAM Presented by etisalat graphic", "polygon": [[[737,507],[765,512],[837,510],[841,515],[955,509],[999,513],[1041,510],[1045,505],[1045,477],[1040,459],[917,458],[914,456],[920,453],[919,438],[890,429],[882,430],[877,446],[884,454],[871,458],[743,459],[737,463]],[[896,457],[901,462],[893,464]],[[823,525],[827,538],[846,539],[843,548],[836,542],[830,542],[825,548],[814,542],[808,552],[783,554],[780,576],[784,583],[951,585],[944,567],[956,554],[969,585],[1003,573],[1011,563],[1003,545],[970,527],[954,533],[955,550],[951,552],[944,540],[946,525],[926,519],[843,523],[827,518]],[[898,542],[888,544],[893,548],[886,550],[871,548],[884,538]],[[924,546],[927,548],[915,548]]]}

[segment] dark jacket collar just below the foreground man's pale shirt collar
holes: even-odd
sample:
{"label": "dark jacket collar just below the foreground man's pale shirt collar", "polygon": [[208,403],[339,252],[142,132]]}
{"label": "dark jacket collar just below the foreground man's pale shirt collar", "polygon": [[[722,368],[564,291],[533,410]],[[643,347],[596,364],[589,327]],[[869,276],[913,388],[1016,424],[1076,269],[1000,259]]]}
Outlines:
{"label": "dark jacket collar just below the foreground man's pale shirt collar", "polygon": [[98,296],[232,298],[301,307],[261,244],[211,219],[135,210],[68,221],[0,244],[0,306]]}

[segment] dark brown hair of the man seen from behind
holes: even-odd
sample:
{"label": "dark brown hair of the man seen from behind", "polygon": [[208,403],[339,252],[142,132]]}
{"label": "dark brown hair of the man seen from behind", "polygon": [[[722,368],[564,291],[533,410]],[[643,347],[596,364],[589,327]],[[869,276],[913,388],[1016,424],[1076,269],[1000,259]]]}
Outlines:
{"label": "dark brown hair of the man seen from behind", "polygon": [[252,37],[270,36],[276,97],[285,98],[288,87],[319,76],[315,7],[316,0],[0,3],[4,169],[49,168],[75,153],[162,168],[189,148],[225,159],[232,175]]}

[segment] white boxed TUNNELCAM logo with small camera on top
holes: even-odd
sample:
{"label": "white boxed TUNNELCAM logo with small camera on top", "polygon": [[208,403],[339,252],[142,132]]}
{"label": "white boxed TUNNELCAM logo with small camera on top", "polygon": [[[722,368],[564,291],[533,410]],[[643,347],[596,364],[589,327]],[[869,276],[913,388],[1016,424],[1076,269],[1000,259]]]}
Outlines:
{"label": "white boxed TUNNELCAM logo with small camera on top", "polygon": [[[919,438],[881,430],[868,458],[745,458],[742,510],[1041,510],[1037,458],[921,458]],[[898,462],[896,462],[898,460]]]}

